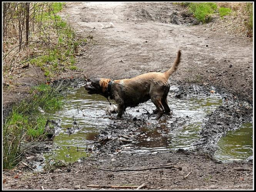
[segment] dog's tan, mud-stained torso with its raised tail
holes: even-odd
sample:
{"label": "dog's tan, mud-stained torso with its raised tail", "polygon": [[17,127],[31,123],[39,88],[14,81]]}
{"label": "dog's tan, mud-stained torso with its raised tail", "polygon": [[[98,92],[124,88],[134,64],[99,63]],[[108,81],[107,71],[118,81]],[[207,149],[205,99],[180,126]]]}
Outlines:
{"label": "dog's tan, mud-stained torso with its raised tail", "polygon": [[131,79],[122,79],[113,81],[114,98],[121,99],[125,107],[135,107],[149,99],[166,98],[170,89],[169,78],[180,63],[180,50],[173,66],[165,73],[150,72],[138,75]]}

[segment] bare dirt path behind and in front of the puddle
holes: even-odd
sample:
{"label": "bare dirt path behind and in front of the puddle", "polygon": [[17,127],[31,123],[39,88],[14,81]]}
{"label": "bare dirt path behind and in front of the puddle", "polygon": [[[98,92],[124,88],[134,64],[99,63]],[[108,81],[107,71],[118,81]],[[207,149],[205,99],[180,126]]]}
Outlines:
{"label": "bare dirt path behind and in front of the puddle", "polygon": [[[252,42],[207,25],[192,26],[196,21],[185,17],[178,6],[162,2],[72,2],[66,4],[61,16],[66,17],[78,37],[89,39],[88,45],[81,47],[83,55],[78,57],[77,63],[88,77],[120,79],[149,71],[164,72],[181,49],[181,64],[171,77],[173,82],[213,85],[229,91],[239,100],[253,101]],[[142,169],[176,162],[182,170],[109,172],[97,169]],[[145,189],[250,190],[253,188],[252,169],[251,164],[222,164],[198,152],[143,156],[102,153],[76,162],[72,169],[33,174],[9,172],[4,176],[4,188],[93,189],[86,185],[145,183]]]}

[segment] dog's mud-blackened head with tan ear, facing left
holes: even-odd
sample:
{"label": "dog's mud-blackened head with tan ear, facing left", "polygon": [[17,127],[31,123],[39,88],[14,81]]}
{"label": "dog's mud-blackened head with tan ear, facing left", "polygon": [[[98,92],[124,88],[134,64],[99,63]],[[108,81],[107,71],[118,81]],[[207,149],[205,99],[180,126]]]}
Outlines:
{"label": "dog's mud-blackened head with tan ear, facing left", "polygon": [[94,78],[85,85],[85,90],[88,91],[88,94],[100,94],[108,98],[109,93],[107,92],[107,87],[109,82],[111,82],[111,79]]}

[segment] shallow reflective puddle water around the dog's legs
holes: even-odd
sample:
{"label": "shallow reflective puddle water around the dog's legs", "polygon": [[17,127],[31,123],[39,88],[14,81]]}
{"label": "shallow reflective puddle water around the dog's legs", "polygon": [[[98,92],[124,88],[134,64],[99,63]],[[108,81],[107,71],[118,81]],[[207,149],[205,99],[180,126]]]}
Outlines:
{"label": "shallow reflective puddle water around the dog's legs", "polygon": [[[177,89],[177,87],[171,89]],[[113,101],[111,103],[114,104]],[[200,138],[199,132],[206,115],[222,104],[222,98],[219,94],[191,95],[181,99],[169,95],[168,104],[173,110],[173,116],[171,118],[163,116],[158,121],[154,120],[156,115],[152,115],[155,106],[151,101],[126,110],[123,120],[135,117],[147,119],[147,126],[140,127],[132,136],[130,135],[133,143],[125,145],[122,152],[145,154],[166,152],[178,148],[192,149],[192,144]],[[106,98],[100,95],[88,95],[83,87],[71,91],[64,100],[64,108],[59,112],[49,114],[52,119],[62,119],[64,128],[55,136],[54,153],[50,158],[74,162],[78,158],[93,154],[94,141],[97,140],[98,133],[113,124],[114,121],[109,119],[106,114],[105,110],[108,107],[109,102]],[[147,115],[148,112],[151,115]],[[178,123],[180,121],[178,129],[172,129],[171,125],[174,121]],[[250,134],[252,135],[252,133]],[[234,136],[234,142],[237,139],[244,138]],[[219,143],[220,147],[226,144],[225,141]],[[239,143],[239,145],[246,148],[243,143]],[[246,145],[249,146],[248,143]],[[234,144],[230,144],[230,146],[233,149],[236,147]],[[249,148],[251,149],[250,146]],[[217,157],[221,160],[222,158],[240,158],[234,157],[234,155],[235,153],[227,154],[224,151],[219,152]],[[243,155],[247,156],[248,154],[244,153]]]}

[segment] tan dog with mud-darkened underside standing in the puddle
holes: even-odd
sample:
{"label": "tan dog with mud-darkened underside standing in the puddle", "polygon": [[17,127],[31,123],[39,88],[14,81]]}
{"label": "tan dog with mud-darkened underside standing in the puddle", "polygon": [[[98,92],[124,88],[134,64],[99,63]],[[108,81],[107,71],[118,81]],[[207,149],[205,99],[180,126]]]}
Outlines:
{"label": "tan dog with mud-darkened underside standing in the puddle", "polygon": [[179,50],[173,66],[164,73],[150,72],[131,79],[114,81],[96,78],[85,84],[85,89],[88,94],[100,94],[107,99],[114,99],[117,103],[119,118],[127,107],[136,107],[151,99],[158,111],[156,119],[160,119],[164,113],[171,112],[167,103],[170,90],[169,78],[178,68],[180,55]]}

